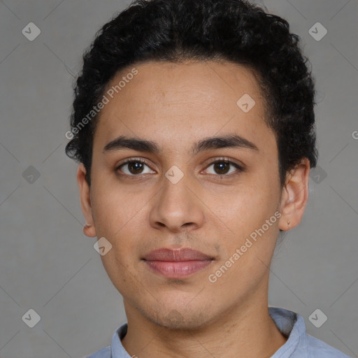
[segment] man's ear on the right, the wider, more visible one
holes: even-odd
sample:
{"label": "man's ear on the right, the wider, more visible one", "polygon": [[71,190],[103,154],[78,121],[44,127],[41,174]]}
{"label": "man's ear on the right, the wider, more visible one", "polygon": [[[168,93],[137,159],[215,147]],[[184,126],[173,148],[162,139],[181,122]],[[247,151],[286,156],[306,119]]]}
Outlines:
{"label": "man's ear on the right, the wider, more visible one", "polygon": [[279,229],[288,231],[296,227],[303,217],[308,202],[310,178],[310,161],[304,158],[287,175],[285,187],[282,189],[281,214]]}

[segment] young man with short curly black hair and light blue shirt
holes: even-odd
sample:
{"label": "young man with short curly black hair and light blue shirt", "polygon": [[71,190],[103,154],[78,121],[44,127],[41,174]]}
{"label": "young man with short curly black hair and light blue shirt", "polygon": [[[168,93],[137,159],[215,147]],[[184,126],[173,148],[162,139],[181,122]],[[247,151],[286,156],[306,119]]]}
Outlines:
{"label": "young man with short curly black hair and light blue shirt", "polygon": [[317,160],[313,82],[287,22],[247,1],[138,0],[104,25],[66,152],[128,322],[90,358],[348,357],[268,308]]}

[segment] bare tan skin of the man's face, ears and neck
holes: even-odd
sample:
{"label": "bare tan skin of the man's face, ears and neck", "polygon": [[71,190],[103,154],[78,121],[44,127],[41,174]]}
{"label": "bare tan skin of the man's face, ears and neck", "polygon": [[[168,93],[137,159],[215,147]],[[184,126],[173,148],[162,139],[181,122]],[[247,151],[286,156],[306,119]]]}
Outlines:
{"label": "bare tan skin of the man's face, ears and neck", "polygon": [[[271,357],[287,338],[268,315],[268,268],[279,229],[296,227],[306,208],[308,159],[287,173],[280,190],[275,136],[263,120],[262,95],[248,68],[231,62],[135,67],[138,74],[99,115],[91,187],[83,164],[77,174],[89,225],[85,235],[104,236],[113,245],[101,259],[124,300],[128,332],[122,344],[129,355],[147,358]],[[129,71],[118,73],[108,88]],[[248,113],[236,105],[243,94],[256,102]],[[258,150],[189,154],[194,142],[224,134],[238,134]],[[103,152],[121,135],[156,141],[162,152]],[[115,172],[124,159],[138,157],[148,162],[143,173],[129,165]],[[222,157],[244,171],[231,164],[222,174],[208,163]],[[164,176],[173,165],[184,174],[176,184]],[[276,211],[280,219],[222,277],[209,282],[208,275]],[[164,247],[189,247],[215,259],[188,278],[164,278],[141,260]]]}

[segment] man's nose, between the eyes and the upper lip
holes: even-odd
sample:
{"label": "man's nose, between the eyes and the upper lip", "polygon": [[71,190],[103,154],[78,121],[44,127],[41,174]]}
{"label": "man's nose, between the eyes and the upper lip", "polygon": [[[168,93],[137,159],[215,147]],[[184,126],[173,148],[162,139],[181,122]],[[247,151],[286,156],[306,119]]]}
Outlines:
{"label": "man's nose, between the eyes and the upper lip", "polygon": [[203,202],[199,193],[194,194],[185,175],[179,182],[173,184],[165,176],[163,187],[152,201],[150,224],[156,229],[164,227],[169,231],[180,232],[188,229],[198,229],[203,225]]}

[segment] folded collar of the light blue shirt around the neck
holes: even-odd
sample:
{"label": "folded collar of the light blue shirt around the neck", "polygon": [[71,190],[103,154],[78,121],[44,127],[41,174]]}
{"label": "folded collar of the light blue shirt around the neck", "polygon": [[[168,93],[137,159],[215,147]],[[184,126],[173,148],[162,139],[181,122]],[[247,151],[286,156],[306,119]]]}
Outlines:
{"label": "folded collar of the light blue shirt around the neck", "polygon": [[[278,327],[279,331],[286,337],[287,342],[280,347],[271,358],[292,357],[292,353],[306,346],[306,327],[303,317],[284,308],[268,307],[268,314]],[[121,339],[127,334],[128,324],[120,326],[112,337],[110,346],[111,358],[131,358],[124,349]],[[300,352],[299,357],[306,358],[306,352]]]}

